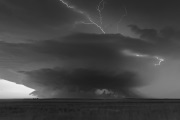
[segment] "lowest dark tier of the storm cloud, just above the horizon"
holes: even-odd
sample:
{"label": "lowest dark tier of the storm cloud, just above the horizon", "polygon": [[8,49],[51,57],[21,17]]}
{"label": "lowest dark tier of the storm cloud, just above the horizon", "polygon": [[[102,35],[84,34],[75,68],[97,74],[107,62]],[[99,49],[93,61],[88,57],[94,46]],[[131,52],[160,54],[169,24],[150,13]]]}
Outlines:
{"label": "lowest dark tier of the storm cloud, just above the horizon", "polygon": [[[141,86],[136,73],[123,71],[114,73],[112,71],[99,71],[93,69],[41,69],[36,71],[21,72],[26,75],[23,84],[35,89],[32,94],[39,97],[64,97],[60,91],[66,89],[69,94],[81,94],[92,92],[95,97],[96,89],[108,89],[125,97],[138,97],[131,90],[133,87]],[[41,89],[55,94],[41,93]],[[56,92],[59,91],[60,93]],[[67,95],[66,95],[67,96]],[[76,96],[78,97],[78,96]]]}

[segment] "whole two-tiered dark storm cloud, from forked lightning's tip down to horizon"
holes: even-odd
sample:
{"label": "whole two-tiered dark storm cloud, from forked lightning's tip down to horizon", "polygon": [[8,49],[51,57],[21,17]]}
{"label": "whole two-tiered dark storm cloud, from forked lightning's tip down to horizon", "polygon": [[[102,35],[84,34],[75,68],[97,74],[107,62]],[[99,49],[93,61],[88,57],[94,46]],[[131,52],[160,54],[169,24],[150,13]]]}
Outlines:
{"label": "whole two-tiered dark storm cloud, from forked lightning's tip down to horizon", "polygon": [[150,43],[120,34],[76,33],[57,40],[34,41],[24,49],[64,60],[64,69],[21,71],[25,75],[22,84],[35,89],[32,94],[39,97],[95,97],[96,89],[138,97],[132,89],[147,81],[142,81],[131,65],[153,62],[126,56],[122,50],[151,53],[151,47]]}

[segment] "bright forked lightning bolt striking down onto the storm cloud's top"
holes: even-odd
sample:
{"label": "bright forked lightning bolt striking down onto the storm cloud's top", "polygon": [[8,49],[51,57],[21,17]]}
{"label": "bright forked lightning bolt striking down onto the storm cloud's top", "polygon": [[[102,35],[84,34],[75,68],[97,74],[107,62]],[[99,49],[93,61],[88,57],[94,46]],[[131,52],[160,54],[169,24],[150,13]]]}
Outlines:
{"label": "bright forked lightning bolt striking down onto the storm cloud's top", "polygon": [[[101,27],[101,25],[98,25],[98,23],[96,23],[86,12],[76,8],[75,6],[72,6],[72,5],[69,5],[68,2],[64,1],[64,0],[59,0],[61,3],[63,3],[64,5],[67,6],[67,8],[69,9],[72,9],[73,11],[83,15],[89,22],[84,22],[84,21],[78,21],[78,22],[75,22],[75,24],[87,24],[87,25],[95,25],[97,28],[99,28],[101,30],[101,32],[103,34],[106,34],[106,32],[104,31],[103,27]],[[103,7],[100,9],[100,6],[101,4],[103,4]],[[100,13],[100,16],[101,16],[101,11],[104,9],[104,1],[102,0],[100,3],[99,3],[99,13]],[[102,22],[102,16],[100,17],[100,21]]]}

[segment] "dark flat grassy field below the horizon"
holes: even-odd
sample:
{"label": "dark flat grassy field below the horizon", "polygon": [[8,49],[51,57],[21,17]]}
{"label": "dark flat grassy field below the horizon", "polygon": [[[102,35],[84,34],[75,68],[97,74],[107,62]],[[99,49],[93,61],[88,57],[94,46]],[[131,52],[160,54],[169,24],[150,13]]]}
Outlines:
{"label": "dark flat grassy field below the horizon", "polygon": [[0,120],[180,120],[180,100],[0,100]]}

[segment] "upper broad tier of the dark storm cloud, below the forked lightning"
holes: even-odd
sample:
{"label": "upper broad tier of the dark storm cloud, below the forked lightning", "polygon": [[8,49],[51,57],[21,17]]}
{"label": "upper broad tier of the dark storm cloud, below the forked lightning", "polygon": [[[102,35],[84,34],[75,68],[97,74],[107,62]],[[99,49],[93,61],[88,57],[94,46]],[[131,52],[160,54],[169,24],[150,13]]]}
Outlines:
{"label": "upper broad tier of the dark storm cloud, below the forked lightning", "polygon": [[71,67],[79,65],[117,69],[119,66],[123,68],[124,62],[133,64],[133,59],[123,55],[122,50],[153,54],[153,47],[153,44],[120,34],[77,33],[57,40],[34,42],[31,50],[57,57],[64,61],[64,65]]}

